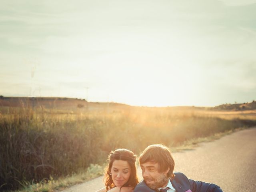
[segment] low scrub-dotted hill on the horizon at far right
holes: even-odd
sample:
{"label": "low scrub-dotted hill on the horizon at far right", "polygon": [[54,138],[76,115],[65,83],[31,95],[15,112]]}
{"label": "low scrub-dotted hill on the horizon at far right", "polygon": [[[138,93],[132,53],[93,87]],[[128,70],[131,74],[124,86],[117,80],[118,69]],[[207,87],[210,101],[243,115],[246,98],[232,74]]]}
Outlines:
{"label": "low scrub-dotted hill on the horizon at far right", "polygon": [[212,110],[254,110],[256,109],[256,101],[251,103],[235,103],[235,104],[222,104],[216,107],[213,107]]}

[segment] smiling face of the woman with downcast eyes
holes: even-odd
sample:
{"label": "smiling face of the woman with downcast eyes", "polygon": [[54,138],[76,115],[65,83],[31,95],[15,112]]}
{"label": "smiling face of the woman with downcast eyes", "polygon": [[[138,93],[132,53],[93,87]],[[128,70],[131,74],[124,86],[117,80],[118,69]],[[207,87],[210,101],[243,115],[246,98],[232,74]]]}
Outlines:
{"label": "smiling face of the woman with downcast eyes", "polygon": [[123,186],[128,182],[131,168],[127,161],[114,160],[111,168],[111,177],[115,186]]}

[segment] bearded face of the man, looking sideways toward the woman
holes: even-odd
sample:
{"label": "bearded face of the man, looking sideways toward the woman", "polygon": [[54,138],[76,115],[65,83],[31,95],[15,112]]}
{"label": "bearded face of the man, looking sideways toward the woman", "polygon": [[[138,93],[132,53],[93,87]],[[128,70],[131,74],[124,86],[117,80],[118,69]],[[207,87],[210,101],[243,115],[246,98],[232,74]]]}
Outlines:
{"label": "bearded face of the man, looking sideways toward the woman", "polygon": [[167,173],[169,170],[160,173],[159,172],[159,163],[146,162],[140,164],[142,169],[142,176],[151,189],[156,189],[160,187],[165,187],[168,184],[169,178]]}

